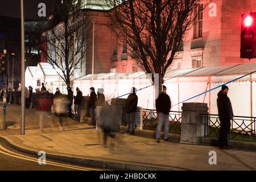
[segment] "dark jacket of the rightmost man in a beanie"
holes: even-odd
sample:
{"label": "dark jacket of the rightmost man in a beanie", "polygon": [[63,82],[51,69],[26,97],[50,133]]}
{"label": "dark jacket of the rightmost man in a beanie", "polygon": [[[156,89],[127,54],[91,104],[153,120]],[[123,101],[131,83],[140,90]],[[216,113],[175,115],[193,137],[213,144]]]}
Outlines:
{"label": "dark jacket of the rightmost man in a beanie", "polygon": [[222,91],[218,93],[217,98],[218,117],[220,119],[233,119],[233,109],[230,99]]}

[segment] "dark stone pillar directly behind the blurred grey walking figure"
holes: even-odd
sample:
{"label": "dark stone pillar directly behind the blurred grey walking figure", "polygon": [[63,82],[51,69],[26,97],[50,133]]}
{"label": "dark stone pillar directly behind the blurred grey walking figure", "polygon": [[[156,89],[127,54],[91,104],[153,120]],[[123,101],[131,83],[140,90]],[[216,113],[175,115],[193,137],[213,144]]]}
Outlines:
{"label": "dark stone pillar directly behind the blurred grey walking figure", "polygon": [[126,98],[112,98],[111,105],[117,107],[117,119],[119,125],[126,125],[126,113],[124,110]]}

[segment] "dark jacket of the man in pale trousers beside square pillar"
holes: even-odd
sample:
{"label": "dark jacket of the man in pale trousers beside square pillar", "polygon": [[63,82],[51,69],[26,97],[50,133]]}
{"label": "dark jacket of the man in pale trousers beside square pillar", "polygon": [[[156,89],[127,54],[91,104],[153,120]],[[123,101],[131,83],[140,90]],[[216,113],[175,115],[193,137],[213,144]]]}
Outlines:
{"label": "dark jacket of the man in pale trousers beside square pillar", "polygon": [[171,110],[171,100],[166,93],[160,93],[155,102],[158,113],[169,114]]}

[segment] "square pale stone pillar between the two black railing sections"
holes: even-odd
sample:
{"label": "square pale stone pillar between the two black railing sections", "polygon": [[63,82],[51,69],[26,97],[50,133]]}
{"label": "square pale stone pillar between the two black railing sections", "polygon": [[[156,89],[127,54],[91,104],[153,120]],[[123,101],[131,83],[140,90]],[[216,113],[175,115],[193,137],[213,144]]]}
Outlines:
{"label": "square pale stone pillar between the two black railing sections", "polygon": [[206,103],[183,103],[181,107],[180,143],[200,144],[204,137],[204,117],[208,114]]}

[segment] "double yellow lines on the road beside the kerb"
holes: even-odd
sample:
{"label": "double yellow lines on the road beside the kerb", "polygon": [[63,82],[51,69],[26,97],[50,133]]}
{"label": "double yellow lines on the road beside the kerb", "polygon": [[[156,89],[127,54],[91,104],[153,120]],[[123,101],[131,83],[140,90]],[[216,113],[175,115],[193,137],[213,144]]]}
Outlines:
{"label": "double yellow lines on the road beside the kerb", "polygon": [[[4,148],[1,145],[0,145],[0,148],[3,150],[3,151],[0,150],[0,153],[2,153],[2,154],[8,155],[8,156],[11,156],[11,157],[14,157],[14,158],[28,160],[28,161],[31,161],[31,162],[38,163],[38,159],[31,158],[30,156],[18,154],[18,153],[15,153],[13,151],[7,150],[6,148]],[[79,166],[71,166],[71,165],[68,165],[68,164],[61,164],[61,163],[50,162],[50,161],[47,161],[46,164],[51,165],[51,166],[58,166],[58,167],[64,167],[64,168],[70,168],[70,169],[77,169],[77,170],[82,170],[82,171],[88,171],[88,170],[100,171],[100,169],[85,168],[85,167],[79,167]]]}

